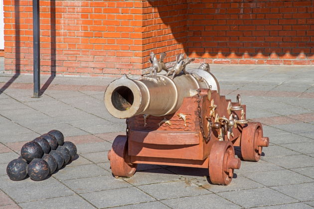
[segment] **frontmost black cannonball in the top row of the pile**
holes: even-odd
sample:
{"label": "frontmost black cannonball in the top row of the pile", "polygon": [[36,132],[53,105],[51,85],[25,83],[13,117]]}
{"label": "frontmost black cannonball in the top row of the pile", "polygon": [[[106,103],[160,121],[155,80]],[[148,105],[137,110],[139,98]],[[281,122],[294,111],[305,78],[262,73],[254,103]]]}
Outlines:
{"label": "frontmost black cannonball in the top row of the pile", "polygon": [[40,145],[35,141],[30,141],[25,143],[21,148],[21,156],[30,162],[34,158],[41,158],[43,155],[43,150]]}

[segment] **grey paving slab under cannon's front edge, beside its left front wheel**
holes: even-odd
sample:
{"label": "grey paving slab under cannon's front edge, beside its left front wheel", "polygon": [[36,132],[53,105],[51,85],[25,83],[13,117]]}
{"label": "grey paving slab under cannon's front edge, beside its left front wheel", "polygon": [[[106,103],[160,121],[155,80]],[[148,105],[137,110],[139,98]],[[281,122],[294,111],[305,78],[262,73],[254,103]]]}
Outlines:
{"label": "grey paving slab under cannon's front edge, beside its left front wheel", "polygon": [[126,179],[132,185],[146,185],[180,180],[180,177],[165,169],[155,169],[136,172],[134,176]]}

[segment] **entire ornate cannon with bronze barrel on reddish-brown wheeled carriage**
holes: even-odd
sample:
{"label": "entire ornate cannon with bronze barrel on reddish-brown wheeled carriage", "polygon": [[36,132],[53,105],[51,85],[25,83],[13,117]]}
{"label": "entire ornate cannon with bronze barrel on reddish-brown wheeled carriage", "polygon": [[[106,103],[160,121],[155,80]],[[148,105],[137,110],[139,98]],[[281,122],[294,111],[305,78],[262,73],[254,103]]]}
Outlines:
{"label": "entire ornate cannon with bronze barrel on reddish-brown wheeled carriage", "polygon": [[108,85],[105,105],[127,123],[108,152],[114,176],[133,176],[139,163],[184,166],[206,168],[211,183],[228,185],[241,165],[234,146],[243,160],[260,159],[269,145],[261,123],[246,119],[240,95],[236,102],[220,96],[208,64],[186,70],[190,61],[178,55],[172,70],[162,65],[165,75],[155,67],[154,75],[124,75]]}

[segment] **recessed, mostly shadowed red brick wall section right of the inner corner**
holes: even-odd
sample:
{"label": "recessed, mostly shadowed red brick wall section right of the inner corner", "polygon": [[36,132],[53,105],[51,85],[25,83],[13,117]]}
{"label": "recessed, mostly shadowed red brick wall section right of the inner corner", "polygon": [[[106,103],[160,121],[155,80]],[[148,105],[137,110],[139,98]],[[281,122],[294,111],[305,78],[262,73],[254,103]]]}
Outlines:
{"label": "recessed, mostly shadowed red brick wall section right of the inner corner", "polygon": [[314,64],[314,0],[189,0],[188,13],[184,48],[191,57],[222,64]]}

